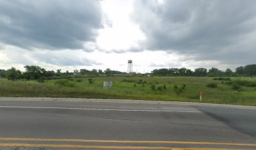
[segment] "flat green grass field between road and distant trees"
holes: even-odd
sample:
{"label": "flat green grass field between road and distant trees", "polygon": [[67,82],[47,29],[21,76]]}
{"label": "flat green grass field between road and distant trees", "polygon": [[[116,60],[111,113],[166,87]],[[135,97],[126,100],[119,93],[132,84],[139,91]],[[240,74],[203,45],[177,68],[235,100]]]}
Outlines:
{"label": "flat green grass field between road and distant trees", "polygon": [[[91,79],[92,83],[89,83]],[[256,78],[232,78],[236,81],[256,82]],[[113,81],[112,89],[103,89],[104,81]],[[216,88],[206,85],[216,83]],[[97,77],[38,81],[8,81],[0,79],[1,97],[60,97],[112,98],[163,101],[240,104],[256,106],[256,87],[239,86],[237,90],[227,81],[210,77]],[[152,87],[152,85],[155,86]],[[174,89],[174,86],[177,89]],[[183,86],[185,85],[185,86]],[[182,89],[184,87],[184,89]],[[179,91],[179,89],[181,91]]]}

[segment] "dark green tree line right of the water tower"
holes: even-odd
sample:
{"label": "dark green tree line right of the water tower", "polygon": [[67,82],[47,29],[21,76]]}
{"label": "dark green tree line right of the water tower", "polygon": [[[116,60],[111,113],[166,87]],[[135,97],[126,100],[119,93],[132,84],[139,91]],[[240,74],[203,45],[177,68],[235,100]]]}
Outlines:
{"label": "dark green tree line right of the water tower", "polygon": [[196,68],[195,71],[186,68],[162,68],[151,71],[154,76],[256,76],[256,64],[240,66],[233,72],[227,68],[221,71],[218,68]]}

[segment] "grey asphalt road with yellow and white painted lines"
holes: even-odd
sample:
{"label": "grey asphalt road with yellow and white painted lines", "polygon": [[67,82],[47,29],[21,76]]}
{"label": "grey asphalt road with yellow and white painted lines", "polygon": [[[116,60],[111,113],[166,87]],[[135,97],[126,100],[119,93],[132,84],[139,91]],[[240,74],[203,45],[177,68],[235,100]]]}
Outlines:
{"label": "grey asphalt road with yellow and white painted lines", "polygon": [[256,149],[256,107],[0,98],[0,149],[30,147]]}

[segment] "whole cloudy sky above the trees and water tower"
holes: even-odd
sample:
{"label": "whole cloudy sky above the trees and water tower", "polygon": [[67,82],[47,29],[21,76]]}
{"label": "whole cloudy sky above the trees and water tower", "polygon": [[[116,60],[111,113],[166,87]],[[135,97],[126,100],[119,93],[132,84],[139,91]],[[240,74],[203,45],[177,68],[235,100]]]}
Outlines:
{"label": "whole cloudy sky above the trees and water tower", "polygon": [[234,71],[255,43],[254,0],[0,1],[0,69]]}

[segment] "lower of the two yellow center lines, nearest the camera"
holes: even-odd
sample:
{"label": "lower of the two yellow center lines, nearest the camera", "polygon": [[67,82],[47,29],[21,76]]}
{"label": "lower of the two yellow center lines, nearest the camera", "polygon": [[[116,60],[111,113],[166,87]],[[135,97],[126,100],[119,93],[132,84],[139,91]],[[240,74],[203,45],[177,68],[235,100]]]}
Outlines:
{"label": "lower of the two yellow center lines, nearest the camera", "polygon": [[242,149],[214,149],[214,148],[170,148],[151,146],[86,146],[68,144],[21,144],[0,143],[0,147],[26,147],[26,148],[77,148],[77,149],[171,149],[171,150],[242,150]]}

